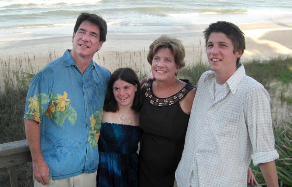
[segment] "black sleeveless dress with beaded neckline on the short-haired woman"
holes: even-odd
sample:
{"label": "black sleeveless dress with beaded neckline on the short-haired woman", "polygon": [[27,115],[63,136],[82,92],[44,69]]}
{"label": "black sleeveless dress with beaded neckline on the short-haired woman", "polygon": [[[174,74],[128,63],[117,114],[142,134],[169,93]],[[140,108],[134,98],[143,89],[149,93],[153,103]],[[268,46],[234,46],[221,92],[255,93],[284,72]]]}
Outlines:
{"label": "black sleeveless dress with beaded neckline on the short-haired woman", "polygon": [[158,98],[152,93],[152,81],[143,88],[140,127],[144,130],[139,152],[139,186],[173,187],[175,171],[182,157],[189,115],[179,101],[195,88],[188,80],[178,93]]}

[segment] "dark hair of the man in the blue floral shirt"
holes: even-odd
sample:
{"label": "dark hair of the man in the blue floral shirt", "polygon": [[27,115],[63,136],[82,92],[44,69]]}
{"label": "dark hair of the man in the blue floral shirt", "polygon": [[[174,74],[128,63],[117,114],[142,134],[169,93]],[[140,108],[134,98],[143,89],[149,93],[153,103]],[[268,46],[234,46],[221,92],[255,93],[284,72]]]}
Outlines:
{"label": "dark hair of the man in the blue floral shirt", "polygon": [[103,41],[103,42],[106,41],[106,33],[107,33],[106,21],[101,16],[97,16],[96,14],[89,14],[89,13],[82,12],[76,20],[76,23],[74,26],[74,34],[76,34],[77,30],[79,29],[79,26],[84,21],[89,21],[90,23],[98,26],[99,41]]}

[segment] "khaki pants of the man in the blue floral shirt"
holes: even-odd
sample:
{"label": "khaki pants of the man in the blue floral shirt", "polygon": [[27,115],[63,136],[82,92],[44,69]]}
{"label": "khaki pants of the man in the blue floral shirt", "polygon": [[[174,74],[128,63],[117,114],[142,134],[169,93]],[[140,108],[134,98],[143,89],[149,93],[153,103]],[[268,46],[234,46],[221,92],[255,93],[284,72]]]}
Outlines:
{"label": "khaki pants of the man in the blue floral shirt", "polygon": [[[46,187],[96,187],[96,172],[83,173],[75,177],[64,178],[60,180],[49,180]],[[33,178],[34,187],[44,186]]]}

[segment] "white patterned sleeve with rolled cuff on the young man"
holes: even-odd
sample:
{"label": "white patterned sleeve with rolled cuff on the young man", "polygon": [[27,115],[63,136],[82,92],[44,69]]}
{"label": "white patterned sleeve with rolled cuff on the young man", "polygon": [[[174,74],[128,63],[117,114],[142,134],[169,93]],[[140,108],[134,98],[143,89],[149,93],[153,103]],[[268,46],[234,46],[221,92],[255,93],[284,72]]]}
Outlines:
{"label": "white patterned sleeve with rolled cuff on the young man", "polygon": [[252,144],[254,165],[279,158],[274,147],[269,93],[261,84],[257,84],[247,93],[244,115]]}

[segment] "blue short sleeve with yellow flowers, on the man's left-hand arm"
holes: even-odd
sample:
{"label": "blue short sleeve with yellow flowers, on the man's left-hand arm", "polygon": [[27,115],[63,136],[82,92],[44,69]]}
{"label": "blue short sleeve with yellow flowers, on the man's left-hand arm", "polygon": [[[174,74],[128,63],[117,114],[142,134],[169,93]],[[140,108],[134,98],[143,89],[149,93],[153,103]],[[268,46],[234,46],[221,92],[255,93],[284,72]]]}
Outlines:
{"label": "blue short sleeve with yellow flowers, on the man's left-hand arm", "polygon": [[43,115],[49,115],[50,91],[43,72],[38,72],[30,82],[26,96],[24,119],[41,122]]}

